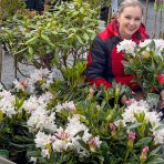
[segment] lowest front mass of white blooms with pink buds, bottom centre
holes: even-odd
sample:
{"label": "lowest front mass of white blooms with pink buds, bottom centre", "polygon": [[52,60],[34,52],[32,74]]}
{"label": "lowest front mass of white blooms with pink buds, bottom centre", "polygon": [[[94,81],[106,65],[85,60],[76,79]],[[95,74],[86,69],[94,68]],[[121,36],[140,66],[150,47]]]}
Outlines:
{"label": "lowest front mass of white blooms with pink buds, bottom centre", "polygon": [[[78,114],[74,114],[72,117],[68,117],[65,127],[59,126],[53,130],[54,132],[51,134],[45,134],[44,132],[39,131],[35,135],[35,147],[41,148],[41,155],[43,157],[50,158],[52,151],[75,151],[80,157],[90,156],[90,151],[94,152],[102,143],[99,136],[92,136],[89,133],[89,127],[81,123],[80,115]],[[82,133],[80,134],[80,132]],[[84,148],[80,141],[88,144],[90,151]]]}

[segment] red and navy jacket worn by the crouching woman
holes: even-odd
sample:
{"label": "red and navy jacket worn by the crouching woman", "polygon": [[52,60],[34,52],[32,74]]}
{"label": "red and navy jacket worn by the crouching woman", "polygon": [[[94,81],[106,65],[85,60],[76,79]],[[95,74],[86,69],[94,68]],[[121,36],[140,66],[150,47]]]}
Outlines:
{"label": "red and navy jacket worn by the crouching woman", "polygon": [[[148,39],[145,28],[141,28],[132,35],[132,40],[136,43]],[[99,88],[104,84],[106,88],[112,88],[112,82],[126,84],[132,90],[137,90],[139,86],[132,83],[134,75],[125,74],[122,61],[123,52],[116,52],[116,45],[121,42],[119,34],[119,24],[114,19],[104,31],[100,32],[90,49],[86,66],[88,82]]]}

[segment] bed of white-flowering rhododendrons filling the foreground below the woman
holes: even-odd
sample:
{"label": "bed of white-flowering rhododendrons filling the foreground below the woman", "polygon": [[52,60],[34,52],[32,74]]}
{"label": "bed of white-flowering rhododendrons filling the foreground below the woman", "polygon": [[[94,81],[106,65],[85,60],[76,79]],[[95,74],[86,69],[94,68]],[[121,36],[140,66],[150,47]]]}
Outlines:
{"label": "bed of white-flowering rhododendrons filling the foreground below the woman", "polygon": [[[13,83],[12,90],[0,89],[0,123],[14,139],[1,126],[1,147],[25,151],[31,163],[164,162],[161,113],[143,100],[121,107],[123,85],[98,90],[83,84],[66,93],[62,80],[47,69]],[[19,133],[12,131],[18,130],[16,122]]]}

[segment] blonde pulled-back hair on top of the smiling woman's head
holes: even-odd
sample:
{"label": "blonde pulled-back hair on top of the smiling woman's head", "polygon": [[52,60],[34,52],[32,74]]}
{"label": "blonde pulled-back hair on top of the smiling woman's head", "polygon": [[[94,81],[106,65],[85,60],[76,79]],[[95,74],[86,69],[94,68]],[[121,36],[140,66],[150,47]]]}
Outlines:
{"label": "blonde pulled-back hair on top of the smiling woman's head", "polygon": [[143,14],[143,7],[140,0],[123,0],[119,7],[117,14],[121,14],[126,7],[139,7]]}

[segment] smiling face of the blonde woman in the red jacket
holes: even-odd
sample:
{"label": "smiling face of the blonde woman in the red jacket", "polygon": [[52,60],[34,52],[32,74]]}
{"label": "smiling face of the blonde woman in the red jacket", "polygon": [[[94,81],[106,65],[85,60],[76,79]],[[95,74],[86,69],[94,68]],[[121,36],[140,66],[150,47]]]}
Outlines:
{"label": "smiling face of the blonde woman in the red jacket", "polygon": [[142,21],[142,10],[140,7],[126,7],[117,16],[119,32],[122,39],[131,39],[132,34],[135,33]]}

